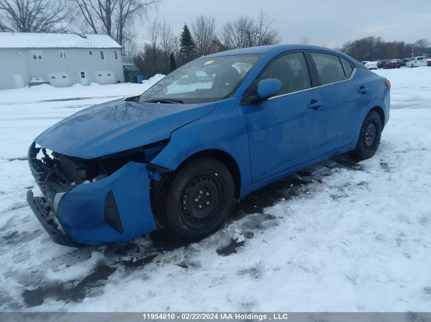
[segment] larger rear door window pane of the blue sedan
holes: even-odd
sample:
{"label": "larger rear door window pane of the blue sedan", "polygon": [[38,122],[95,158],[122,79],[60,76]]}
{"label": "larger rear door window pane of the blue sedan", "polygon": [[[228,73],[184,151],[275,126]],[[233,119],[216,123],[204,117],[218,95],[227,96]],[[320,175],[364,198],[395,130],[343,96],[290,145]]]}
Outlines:
{"label": "larger rear door window pane of the blue sedan", "polygon": [[312,52],[311,56],[316,64],[322,85],[347,79],[338,56],[321,52]]}

